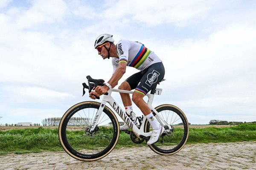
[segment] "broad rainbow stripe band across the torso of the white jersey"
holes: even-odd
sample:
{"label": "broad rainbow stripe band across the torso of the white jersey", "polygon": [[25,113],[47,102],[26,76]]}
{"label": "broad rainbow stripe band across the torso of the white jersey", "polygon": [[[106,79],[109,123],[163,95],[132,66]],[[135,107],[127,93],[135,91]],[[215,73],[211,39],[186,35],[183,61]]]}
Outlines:
{"label": "broad rainbow stripe band across the torso of the white jersey", "polygon": [[130,63],[129,66],[134,67],[134,68],[139,68],[140,65],[142,65],[143,62],[148,58],[150,53],[151,53],[151,51],[148,50],[148,48],[145,48],[144,44],[141,45],[140,51],[134,57],[134,59],[132,60],[132,62]]}

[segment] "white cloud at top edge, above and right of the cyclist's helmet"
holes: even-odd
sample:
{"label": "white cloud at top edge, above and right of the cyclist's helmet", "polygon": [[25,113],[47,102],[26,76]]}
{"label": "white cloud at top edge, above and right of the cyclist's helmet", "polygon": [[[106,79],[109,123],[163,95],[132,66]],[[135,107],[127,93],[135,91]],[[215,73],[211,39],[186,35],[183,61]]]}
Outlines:
{"label": "white cloud at top edge, above and right of the cyclist's helmet", "polygon": [[192,20],[195,22],[198,19],[204,19],[210,7],[213,8],[213,6],[214,3],[204,0],[164,1],[163,3],[154,0],[130,0],[109,4],[103,11],[103,15],[108,20],[122,20],[125,17],[149,26],[163,23],[183,25]]}

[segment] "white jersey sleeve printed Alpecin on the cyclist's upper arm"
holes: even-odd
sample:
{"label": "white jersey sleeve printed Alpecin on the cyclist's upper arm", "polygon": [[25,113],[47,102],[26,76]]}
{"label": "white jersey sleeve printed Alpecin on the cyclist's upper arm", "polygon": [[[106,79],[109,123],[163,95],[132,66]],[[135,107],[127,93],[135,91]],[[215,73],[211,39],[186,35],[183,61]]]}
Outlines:
{"label": "white jersey sleeve printed Alpecin on the cyclist's upper arm", "polygon": [[128,52],[131,48],[131,44],[128,40],[120,40],[116,45],[117,55],[119,56],[119,62],[128,63]]}

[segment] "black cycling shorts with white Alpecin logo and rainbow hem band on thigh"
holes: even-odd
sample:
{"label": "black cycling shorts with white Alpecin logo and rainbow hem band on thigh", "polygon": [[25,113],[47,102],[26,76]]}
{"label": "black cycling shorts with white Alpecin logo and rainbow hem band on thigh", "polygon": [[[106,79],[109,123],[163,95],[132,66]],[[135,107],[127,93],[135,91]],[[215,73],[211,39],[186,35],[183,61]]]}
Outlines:
{"label": "black cycling shorts with white Alpecin logo and rainbow hem band on thigh", "polygon": [[143,71],[131,75],[126,81],[129,83],[131,90],[146,95],[159,83],[165,74],[162,62],[150,65]]}

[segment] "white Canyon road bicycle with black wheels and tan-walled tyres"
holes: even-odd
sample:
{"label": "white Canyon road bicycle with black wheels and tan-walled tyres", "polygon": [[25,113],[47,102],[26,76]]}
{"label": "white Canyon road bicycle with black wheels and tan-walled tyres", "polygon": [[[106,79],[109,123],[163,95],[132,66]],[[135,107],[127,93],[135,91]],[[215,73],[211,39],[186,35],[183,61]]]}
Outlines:
{"label": "white Canyon road bicycle with black wheels and tan-walled tyres", "polygon": [[[83,83],[83,95],[85,89],[89,92],[93,87],[104,85],[103,79],[92,79],[87,76],[88,84]],[[164,80],[164,79],[163,79]],[[102,102],[85,101],[73,105],[61,118],[58,136],[64,150],[73,158],[81,161],[95,161],[107,156],[116,146],[119,139],[119,122],[116,115],[131,128],[124,130],[130,135],[132,142],[141,144],[150,139],[152,130],[146,117],[138,116],[137,127],[131,118],[123,111],[122,107],[113,99],[113,92],[132,94],[133,91],[125,91],[111,88],[103,95]],[[183,111],[174,105],[164,104],[156,108],[152,106],[154,95],[160,95],[162,89],[156,86],[148,97],[148,106],[158,123],[165,127],[159,140],[148,145],[151,150],[160,155],[172,155],[180,151],[189,136],[189,123]],[[99,97],[97,97],[99,99]],[[112,111],[106,104],[109,103]]]}

